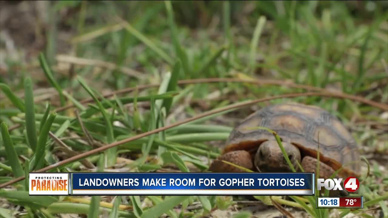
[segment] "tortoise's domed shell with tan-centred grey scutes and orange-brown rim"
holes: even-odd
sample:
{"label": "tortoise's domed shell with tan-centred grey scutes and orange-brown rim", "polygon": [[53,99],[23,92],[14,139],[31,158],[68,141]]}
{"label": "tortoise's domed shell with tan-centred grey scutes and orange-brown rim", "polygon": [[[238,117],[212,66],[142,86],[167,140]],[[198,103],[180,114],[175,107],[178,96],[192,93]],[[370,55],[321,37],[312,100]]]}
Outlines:
{"label": "tortoise's domed shell with tan-centred grey scutes and orange-brown rim", "polygon": [[302,158],[317,158],[319,148],[320,161],[334,170],[344,166],[339,175],[359,176],[360,155],[352,135],[335,116],[316,106],[285,103],[254,112],[232,130],[223,154],[236,150],[254,154],[262,142],[275,140],[272,133],[259,126],[298,147]]}

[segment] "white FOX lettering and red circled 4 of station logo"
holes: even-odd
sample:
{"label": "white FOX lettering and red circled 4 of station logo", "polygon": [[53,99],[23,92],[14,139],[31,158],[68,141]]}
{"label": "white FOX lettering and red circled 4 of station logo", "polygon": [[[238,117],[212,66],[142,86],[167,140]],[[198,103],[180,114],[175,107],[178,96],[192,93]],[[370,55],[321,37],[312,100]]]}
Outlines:
{"label": "white FOX lettering and red circled 4 of station logo", "polygon": [[[322,187],[325,187],[327,190],[343,190],[342,189],[342,178],[333,178],[333,179],[317,179],[317,189],[321,190]],[[349,176],[343,181],[343,187],[348,192],[355,192],[360,187],[360,182],[356,177]]]}

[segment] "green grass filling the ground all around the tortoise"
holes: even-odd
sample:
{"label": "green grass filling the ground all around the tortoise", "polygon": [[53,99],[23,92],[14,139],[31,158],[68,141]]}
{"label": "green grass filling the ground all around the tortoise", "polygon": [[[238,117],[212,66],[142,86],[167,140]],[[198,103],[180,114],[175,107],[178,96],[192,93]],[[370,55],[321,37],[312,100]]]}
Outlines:
{"label": "green grass filling the ground all around the tortoise", "polygon": [[[182,85],[180,80],[266,78],[334,89],[385,105],[388,99],[388,6],[383,1],[360,1],[359,5],[345,1],[53,4],[52,9],[42,12],[50,17],[48,28],[42,30],[47,36],[45,47],[33,53],[28,62],[6,53],[1,66],[7,73],[3,76],[0,71],[0,183],[202,112],[305,92],[285,85]],[[36,17],[35,23],[42,21]],[[63,42],[68,35],[71,38]],[[14,44],[21,51],[31,50],[20,46],[21,42]],[[0,49],[7,49],[5,45],[0,39]],[[82,58],[82,64],[74,59],[66,65],[69,60],[56,59],[56,54]],[[96,61],[100,61],[100,67],[94,64]],[[148,84],[159,85],[103,97],[107,92]],[[83,99],[92,101],[82,104]],[[237,121],[267,103],[291,100],[322,107],[338,116],[371,166],[359,193],[364,196],[364,209],[340,209],[340,217],[348,213],[374,217],[376,214],[366,214],[371,208],[388,217],[388,170],[383,162],[376,161],[388,154],[384,111],[342,98],[283,98],[220,112],[54,170],[84,171],[85,166],[94,165],[97,171],[112,170],[112,166],[142,172],[171,168],[206,171],[221,151],[214,142],[223,144]],[[57,111],[69,104],[75,107]],[[209,161],[203,161],[206,157]],[[361,180],[366,173],[362,171]],[[23,211],[23,216],[29,217],[60,213],[97,217],[105,213],[111,218],[163,214],[194,218],[217,209],[232,211],[230,206],[241,200],[225,196],[122,196],[114,200],[95,196],[79,202],[73,196],[28,196],[25,181],[12,187],[0,190],[0,196],[10,205],[0,210],[0,216],[13,217]],[[315,209],[312,196],[255,198],[269,205],[275,201],[291,214],[293,208],[303,209],[312,217],[326,218],[333,213],[331,209]],[[19,212],[14,211],[16,205],[22,206]],[[239,211],[233,217],[254,215],[246,208]]]}

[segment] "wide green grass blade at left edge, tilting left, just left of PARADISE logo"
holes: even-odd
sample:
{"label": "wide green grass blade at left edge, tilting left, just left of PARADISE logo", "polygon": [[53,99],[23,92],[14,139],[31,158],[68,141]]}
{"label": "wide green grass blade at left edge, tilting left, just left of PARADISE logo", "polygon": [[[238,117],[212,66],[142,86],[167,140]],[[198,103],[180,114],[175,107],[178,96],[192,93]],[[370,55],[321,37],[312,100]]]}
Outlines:
{"label": "wide green grass blade at left edge, tilting left, just left of PARADISE logo", "polygon": [[1,134],[4,141],[5,152],[7,154],[6,157],[9,161],[9,165],[12,168],[12,173],[14,174],[14,177],[23,176],[24,170],[19,162],[19,157],[17,156],[14,144],[11,140],[7,125],[5,123],[1,124]]}

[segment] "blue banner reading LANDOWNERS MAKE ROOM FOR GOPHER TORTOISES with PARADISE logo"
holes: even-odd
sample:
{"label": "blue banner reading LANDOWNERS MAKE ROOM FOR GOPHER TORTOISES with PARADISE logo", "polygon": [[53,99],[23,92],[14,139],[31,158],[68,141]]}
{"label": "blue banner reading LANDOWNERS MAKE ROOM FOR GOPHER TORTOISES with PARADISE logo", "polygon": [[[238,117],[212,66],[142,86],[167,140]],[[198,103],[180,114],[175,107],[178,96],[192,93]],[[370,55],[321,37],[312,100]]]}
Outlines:
{"label": "blue banner reading LANDOWNERS MAKE ROOM FOR GOPHER TORTOISES with PARADISE logo", "polygon": [[314,173],[30,173],[30,195],[314,195]]}

